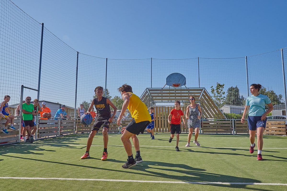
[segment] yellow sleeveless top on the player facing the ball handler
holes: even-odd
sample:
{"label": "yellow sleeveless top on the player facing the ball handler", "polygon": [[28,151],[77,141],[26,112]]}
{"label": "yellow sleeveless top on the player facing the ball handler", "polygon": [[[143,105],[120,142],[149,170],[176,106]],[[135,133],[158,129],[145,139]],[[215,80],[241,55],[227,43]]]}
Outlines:
{"label": "yellow sleeveless top on the player facing the ball handler", "polygon": [[131,96],[129,97],[129,106],[127,108],[131,113],[131,117],[135,119],[136,123],[142,121],[150,122],[152,120],[152,118],[150,117],[150,113],[148,112],[148,108],[134,93],[131,93]]}

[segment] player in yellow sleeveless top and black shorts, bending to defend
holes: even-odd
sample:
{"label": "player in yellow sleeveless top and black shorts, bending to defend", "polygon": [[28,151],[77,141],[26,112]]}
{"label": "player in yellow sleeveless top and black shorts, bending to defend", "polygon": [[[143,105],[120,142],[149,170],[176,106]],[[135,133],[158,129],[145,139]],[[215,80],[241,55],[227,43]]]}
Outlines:
{"label": "player in yellow sleeveless top and black shorts, bending to defend", "polygon": [[[121,128],[121,133],[123,134],[121,136],[121,140],[128,156],[127,162],[122,167],[130,168],[135,166],[137,163],[143,162],[139,152],[139,140],[137,139],[136,135],[139,135],[139,133],[144,133],[146,126],[151,122],[151,117],[148,112],[148,108],[141,101],[141,99],[133,93],[130,85],[124,84],[119,87],[118,91],[121,93],[124,103],[117,120],[117,124],[119,126],[121,125],[121,119],[123,118],[123,114],[127,109],[133,118],[126,127]],[[136,151],[135,159],[133,158],[133,152],[131,150],[130,138],[133,140],[133,145]]]}

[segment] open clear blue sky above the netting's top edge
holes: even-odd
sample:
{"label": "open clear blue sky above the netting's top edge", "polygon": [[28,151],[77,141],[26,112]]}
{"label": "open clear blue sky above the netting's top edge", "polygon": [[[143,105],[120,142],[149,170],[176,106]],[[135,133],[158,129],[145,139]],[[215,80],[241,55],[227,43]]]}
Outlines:
{"label": "open clear blue sky above the netting's top edge", "polygon": [[244,57],[287,46],[287,1],[12,1],[103,58]]}

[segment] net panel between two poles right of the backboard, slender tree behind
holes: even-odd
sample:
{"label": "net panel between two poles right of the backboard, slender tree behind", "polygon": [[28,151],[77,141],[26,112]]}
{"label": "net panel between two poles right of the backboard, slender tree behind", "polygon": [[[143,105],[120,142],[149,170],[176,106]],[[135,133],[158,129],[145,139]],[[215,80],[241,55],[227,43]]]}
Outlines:
{"label": "net panel between two poles right of the backboard, slender tree behind", "polygon": [[212,96],[227,119],[241,118],[247,97],[245,57],[199,58],[200,87]]}

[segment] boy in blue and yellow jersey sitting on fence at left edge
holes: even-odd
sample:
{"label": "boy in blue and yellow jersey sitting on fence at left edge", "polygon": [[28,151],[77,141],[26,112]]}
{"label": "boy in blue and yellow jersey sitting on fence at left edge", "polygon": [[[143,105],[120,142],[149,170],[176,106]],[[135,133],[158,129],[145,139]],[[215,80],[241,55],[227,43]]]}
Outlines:
{"label": "boy in blue and yellow jersey sitting on fence at left edge", "polygon": [[2,132],[6,134],[9,134],[9,132],[7,131],[7,126],[9,123],[11,124],[9,129],[16,131],[16,129],[13,127],[14,116],[10,114],[10,110],[9,110],[9,105],[8,105],[9,101],[10,101],[10,96],[5,95],[4,101],[0,105],[0,111],[3,114],[2,118],[6,120],[4,129],[2,130]]}

